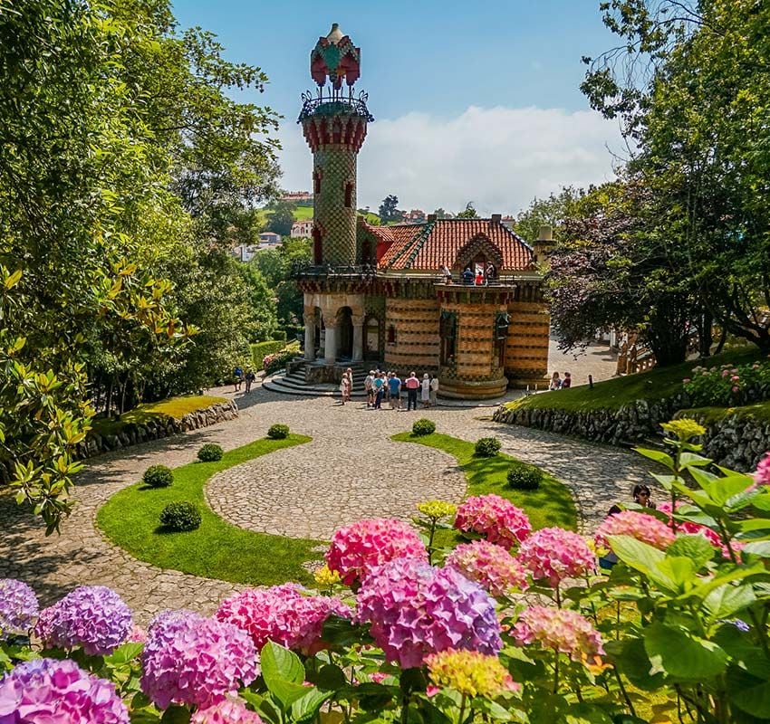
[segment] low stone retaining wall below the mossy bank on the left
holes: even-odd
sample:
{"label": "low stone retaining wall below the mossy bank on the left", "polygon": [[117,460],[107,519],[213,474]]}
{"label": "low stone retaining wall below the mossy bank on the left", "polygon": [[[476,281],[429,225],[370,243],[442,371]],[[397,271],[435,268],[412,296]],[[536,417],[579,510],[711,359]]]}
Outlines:
{"label": "low stone retaining wall below the mossy bank on the left", "polygon": [[101,452],[120,450],[130,445],[144,443],[148,440],[159,440],[188,430],[198,430],[212,424],[233,420],[238,416],[238,406],[235,401],[217,402],[215,405],[188,413],[180,419],[173,417],[149,420],[142,424],[127,424],[117,435],[101,435],[90,433],[85,442],[78,446],[79,458],[90,458]]}

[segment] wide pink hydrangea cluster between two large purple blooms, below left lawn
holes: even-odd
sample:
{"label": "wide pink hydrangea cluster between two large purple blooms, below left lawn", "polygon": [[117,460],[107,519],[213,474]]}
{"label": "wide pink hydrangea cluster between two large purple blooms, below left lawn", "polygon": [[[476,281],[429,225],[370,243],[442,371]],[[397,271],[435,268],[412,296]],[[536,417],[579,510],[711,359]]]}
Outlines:
{"label": "wide pink hydrangea cluster between two large purple blooms, below left lawn", "polygon": [[215,616],[248,633],[257,651],[271,639],[311,655],[324,647],[322,626],[331,614],[350,618],[352,612],[338,598],[303,595],[300,586],[287,583],[266,590],[246,589],[223,601]]}

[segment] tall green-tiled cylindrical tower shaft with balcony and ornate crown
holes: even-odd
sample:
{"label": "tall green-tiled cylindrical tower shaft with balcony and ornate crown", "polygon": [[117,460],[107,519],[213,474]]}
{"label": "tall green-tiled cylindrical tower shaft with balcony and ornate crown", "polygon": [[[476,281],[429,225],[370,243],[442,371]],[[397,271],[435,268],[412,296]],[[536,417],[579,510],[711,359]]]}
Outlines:
{"label": "tall green-tiled cylindrical tower shaft with balcony and ornate crown", "polygon": [[[298,122],[313,151],[313,260],[352,265],[361,262],[356,258],[356,164],[366,125],[374,119],[366,93],[353,97],[353,83],[361,74],[361,48],[338,24],[315,44],[310,74],[318,89],[315,95],[303,93]],[[330,86],[324,93],[326,81]]]}

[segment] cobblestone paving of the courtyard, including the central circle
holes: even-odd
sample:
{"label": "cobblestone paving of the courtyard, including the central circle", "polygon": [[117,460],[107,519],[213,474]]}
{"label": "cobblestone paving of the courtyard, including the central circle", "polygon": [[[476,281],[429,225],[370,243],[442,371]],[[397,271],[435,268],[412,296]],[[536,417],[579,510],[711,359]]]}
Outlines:
{"label": "cobblestone paving of the courtyard, including the central circle", "polygon": [[[210,613],[240,586],[161,570],[130,557],[95,528],[96,511],[151,464],[191,462],[203,443],[232,449],[263,437],[274,423],[311,435],[313,443],[219,473],[207,494],[215,510],[237,524],[285,535],[328,538],[337,523],[363,515],[406,517],[418,500],[458,500],[462,476],[450,456],[388,439],[420,416],[433,419],[438,432],[469,441],[494,434],[505,452],[552,472],[572,487],[586,530],[602,519],[613,500],[629,500],[635,481],[648,479],[644,463],[632,452],[496,424],[488,409],[378,412],[361,403],[342,406],[329,398],[289,397],[259,387],[250,395],[236,393],[236,401],[241,407],[237,420],[91,460],[78,480],[77,506],[61,536],[45,538],[37,519],[16,508],[7,491],[0,494],[0,577],[28,582],[45,605],[80,584],[111,586],[142,623],[167,607]],[[248,500],[254,504],[244,514]]]}

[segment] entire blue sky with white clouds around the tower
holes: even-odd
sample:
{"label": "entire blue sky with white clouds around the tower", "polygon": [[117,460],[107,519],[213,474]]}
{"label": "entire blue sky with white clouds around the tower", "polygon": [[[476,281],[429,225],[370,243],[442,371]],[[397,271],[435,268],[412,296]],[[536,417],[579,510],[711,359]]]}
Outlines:
{"label": "entire blue sky with white clouds around the tower", "polygon": [[283,186],[307,188],[312,162],[295,124],[311,88],[309,53],[332,22],[361,47],[375,116],[361,151],[359,205],[515,213],[534,195],[611,177],[615,124],[588,108],[582,55],[613,44],[598,0],[266,3],[177,0],[182,27],[217,33],[233,61],[270,78],[249,100],[284,115]]}

